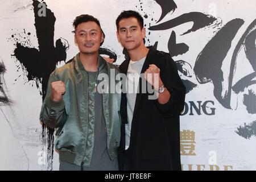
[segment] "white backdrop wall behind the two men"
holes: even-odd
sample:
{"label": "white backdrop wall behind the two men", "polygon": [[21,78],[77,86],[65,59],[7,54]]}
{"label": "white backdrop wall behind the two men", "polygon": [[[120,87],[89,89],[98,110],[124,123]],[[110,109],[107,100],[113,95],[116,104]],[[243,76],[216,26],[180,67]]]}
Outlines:
{"label": "white backdrop wall behind the two men", "polygon": [[[4,170],[59,168],[58,154],[54,151],[52,156],[52,149],[47,150],[47,130],[42,132],[39,123],[43,76],[35,72],[46,72],[48,63],[40,60],[42,55],[34,56],[33,50],[39,50],[38,35],[49,31],[51,24],[35,24],[35,16],[40,15],[34,12],[37,2],[33,5],[32,0],[0,0],[0,169]],[[255,24],[246,34],[256,17],[255,0],[44,2],[56,18],[51,21],[53,46],[57,47],[58,39],[65,44],[62,55],[66,52],[67,56],[59,59],[56,67],[79,51],[71,33],[77,15],[91,14],[100,20],[106,34],[102,48],[114,53],[115,64],[121,64],[125,56],[115,35],[115,19],[122,10],[141,13],[146,45],[157,42],[159,50],[170,52],[189,90],[180,117],[183,169],[256,169]],[[44,10],[42,6],[41,15]],[[48,15],[45,18],[52,18]]]}

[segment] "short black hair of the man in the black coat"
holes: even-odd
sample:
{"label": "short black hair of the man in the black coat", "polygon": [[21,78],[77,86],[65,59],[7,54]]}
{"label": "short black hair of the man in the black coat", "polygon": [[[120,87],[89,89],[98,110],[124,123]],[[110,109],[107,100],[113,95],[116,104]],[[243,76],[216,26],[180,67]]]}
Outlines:
{"label": "short black hair of the man in the black coat", "polygon": [[141,26],[141,29],[144,27],[144,20],[143,20],[141,14],[139,14],[137,11],[128,10],[128,11],[122,11],[122,13],[119,14],[117,19],[115,20],[115,24],[117,26],[117,31],[118,31],[119,22],[121,21],[121,19],[131,18],[131,17],[136,18],[138,20],[138,23],[139,23],[139,26]]}

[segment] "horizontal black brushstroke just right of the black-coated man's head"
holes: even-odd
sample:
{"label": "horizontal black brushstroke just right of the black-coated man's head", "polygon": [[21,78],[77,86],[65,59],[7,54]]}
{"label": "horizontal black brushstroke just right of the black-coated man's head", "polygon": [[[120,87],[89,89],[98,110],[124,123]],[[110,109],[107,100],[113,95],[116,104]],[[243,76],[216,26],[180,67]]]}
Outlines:
{"label": "horizontal black brushstroke just right of the black-coated man's head", "polygon": [[216,25],[216,24],[213,24],[214,22],[217,23],[216,20],[217,19],[211,15],[206,15],[200,12],[191,12],[191,13],[185,13],[183,15],[178,16],[177,18],[168,20],[167,22],[164,22],[164,23],[160,23],[156,26],[151,26],[150,28],[148,28],[148,30],[167,30],[167,29],[179,26],[180,24],[193,22],[192,28],[189,29],[187,32],[184,32],[184,34],[182,34],[182,35],[185,35],[190,32],[195,32],[200,28]]}

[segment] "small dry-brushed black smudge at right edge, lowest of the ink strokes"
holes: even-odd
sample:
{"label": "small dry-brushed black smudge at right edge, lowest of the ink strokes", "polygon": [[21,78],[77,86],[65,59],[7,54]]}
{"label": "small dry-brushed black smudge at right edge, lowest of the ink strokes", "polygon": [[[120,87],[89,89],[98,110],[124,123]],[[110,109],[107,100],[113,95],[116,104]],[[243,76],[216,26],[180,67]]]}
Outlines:
{"label": "small dry-brushed black smudge at right edge, lowest of the ink strokes", "polygon": [[248,125],[244,123],[244,126],[239,126],[235,132],[245,139],[250,139],[252,136],[256,136],[256,121],[253,121]]}

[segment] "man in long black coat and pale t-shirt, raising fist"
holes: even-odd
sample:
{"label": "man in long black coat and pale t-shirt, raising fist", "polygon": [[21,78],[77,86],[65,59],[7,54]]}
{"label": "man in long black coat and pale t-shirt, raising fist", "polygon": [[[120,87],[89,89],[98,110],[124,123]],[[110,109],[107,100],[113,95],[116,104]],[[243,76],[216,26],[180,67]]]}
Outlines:
{"label": "man in long black coat and pale t-shirt, raising fist", "polygon": [[[168,53],[144,45],[146,29],[138,12],[123,11],[116,25],[118,42],[129,54],[119,67],[127,76],[121,99],[119,169],[181,170],[179,116],[185,86],[176,64]],[[150,89],[143,92],[143,81],[155,98]]]}

